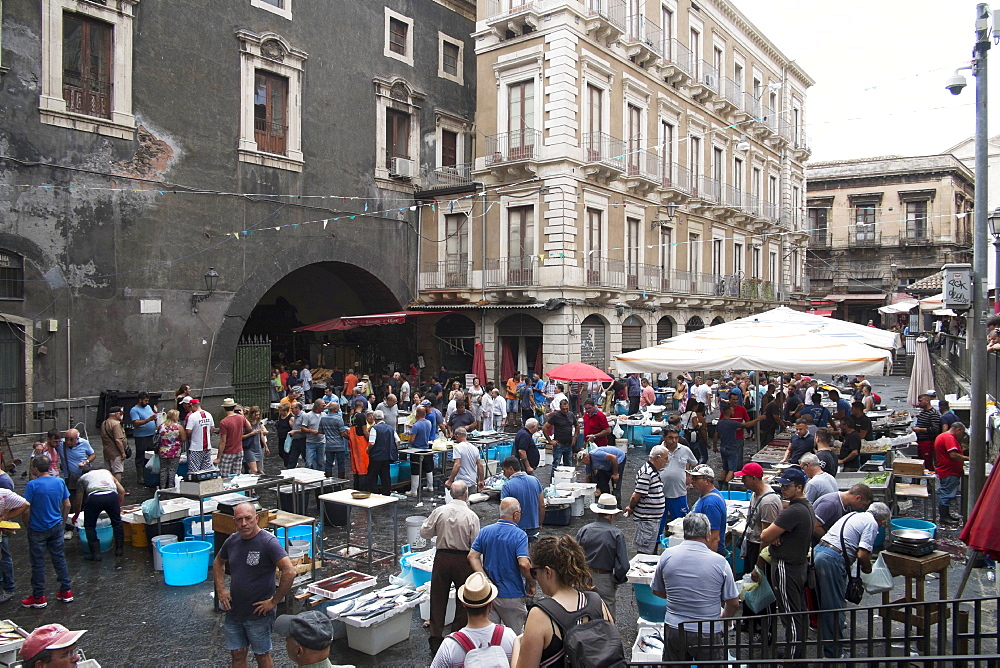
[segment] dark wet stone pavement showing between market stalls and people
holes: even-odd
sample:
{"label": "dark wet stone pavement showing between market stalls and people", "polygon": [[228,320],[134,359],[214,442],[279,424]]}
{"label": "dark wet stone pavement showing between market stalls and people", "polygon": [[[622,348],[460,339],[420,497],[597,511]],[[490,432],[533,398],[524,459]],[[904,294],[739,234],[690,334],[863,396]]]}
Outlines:
{"label": "dark wet stone pavement showing between market stalls and people", "polygon": [[[883,396],[883,403],[893,408],[905,408],[907,379],[904,377],[873,378],[875,391]],[[96,434],[92,434],[96,437]],[[99,437],[96,438],[99,442]],[[91,441],[94,442],[93,440]],[[747,448],[748,454],[750,448]],[[272,452],[276,452],[272,448]],[[710,461],[718,467],[718,455],[712,453]],[[642,448],[630,449],[625,475],[623,476],[623,496],[628,498],[634,485],[635,472],[645,457]],[[131,462],[129,462],[131,464]],[[266,462],[265,470],[277,472],[281,468],[280,460],[272,455]],[[550,467],[543,467],[539,474],[543,483],[548,482]],[[717,469],[718,470],[718,469]],[[20,471],[14,476],[18,492],[23,490],[25,480],[20,477]],[[135,469],[128,468],[125,473],[125,486],[132,495],[130,503],[140,502],[151,496],[151,490],[137,485]],[[437,500],[440,503],[440,499]],[[693,499],[692,499],[693,501]],[[265,505],[275,505],[274,496],[263,498]],[[473,508],[480,515],[485,526],[496,520],[498,506],[496,502],[487,501],[475,504]],[[315,512],[315,505],[313,506]],[[405,518],[411,515],[427,515],[431,506],[427,503],[422,508],[415,508],[411,499],[399,502],[399,532],[401,541],[405,542]],[[917,509],[911,509],[910,515],[918,516]],[[374,533],[377,547],[392,549],[391,523],[381,520],[378,512],[375,515]],[[364,517],[360,513],[354,516],[355,535],[360,536],[365,527]],[[584,517],[574,517],[567,527],[543,527],[543,533],[575,535],[579,527],[593,519],[591,513]],[[617,522],[626,534],[629,545],[633,533],[631,520],[619,519]],[[324,537],[327,541],[343,537],[343,530],[326,527]],[[957,591],[958,583],[964,568],[964,551],[957,542],[957,531],[939,530],[939,546],[948,549],[956,558],[949,574],[949,590]],[[227,666],[229,653],[225,650],[221,624],[223,614],[214,609],[213,587],[211,578],[204,583],[189,587],[168,587],[163,583],[162,574],[154,572],[152,556],[148,547],[138,548],[126,544],[125,555],[115,558],[112,552],[104,553],[104,560],[98,563],[84,561],[80,551],[79,540],[67,543],[66,554],[69,562],[70,575],[73,579],[75,600],[63,604],[55,600],[57,583],[51,565],[47,570],[46,592],[49,605],[45,609],[34,610],[20,607],[21,598],[30,593],[30,566],[28,563],[27,540],[23,531],[10,539],[10,549],[14,556],[14,569],[17,580],[15,598],[0,605],[0,618],[12,619],[26,629],[32,629],[42,624],[57,622],[70,629],[88,629],[83,637],[81,647],[88,656],[97,659],[102,666]],[[632,554],[630,549],[630,555]],[[334,574],[343,568],[327,568],[327,574]],[[363,569],[362,569],[363,570]],[[390,574],[398,574],[398,564],[392,568],[386,566],[376,569],[380,585],[388,580]],[[897,578],[897,589],[901,589],[902,580]],[[928,596],[936,595],[937,586],[928,586]],[[965,596],[996,595],[996,584],[988,581],[986,569],[973,571]],[[893,598],[898,598],[901,592],[894,592]],[[866,597],[865,603],[877,603],[876,597]],[[626,652],[635,639],[635,623],[638,617],[635,598],[630,585],[618,589],[618,620],[617,626],[626,644]],[[995,606],[990,609],[990,622],[995,623]],[[987,628],[992,628],[988,626]],[[394,645],[376,657],[370,657],[350,649],[347,641],[338,640],[333,645],[331,660],[336,664],[353,664],[356,666],[426,666],[431,655],[427,645],[427,631],[422,628],[418,611],[412,614],[409,640]],[[278,666],[291,666],[285,653],[284,642],[274,637],[273,656]]]}

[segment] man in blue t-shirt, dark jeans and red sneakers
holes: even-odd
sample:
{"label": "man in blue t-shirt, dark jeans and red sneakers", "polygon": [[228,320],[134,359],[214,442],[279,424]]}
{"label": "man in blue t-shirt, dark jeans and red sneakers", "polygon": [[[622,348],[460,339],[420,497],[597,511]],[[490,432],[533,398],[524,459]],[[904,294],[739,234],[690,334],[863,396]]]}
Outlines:
{"label": "man in blue t-shirt, dark jeans and red sneakers", "polygon": [[24,487],[24,498],[31,504],[28,510],[28,548],[31,556],[31,596],[21,601],[26,608],[44,608],[45,600],[45,553],[52,558],[59,579],[56,598],[63,603],[73,600],[72,583],[63,553],[63,525],[69,514],[69,490],[62,478],[47,475],[48,457],[35,457],[31,465],[40,474],[28,481]]}

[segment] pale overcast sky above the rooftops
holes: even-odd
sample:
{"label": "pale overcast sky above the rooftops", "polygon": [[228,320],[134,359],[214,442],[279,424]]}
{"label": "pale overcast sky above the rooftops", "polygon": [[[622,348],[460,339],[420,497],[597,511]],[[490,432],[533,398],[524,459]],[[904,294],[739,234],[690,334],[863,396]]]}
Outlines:
{"label": "pale overcast sky above the rooftops", "polygon": [[[971,72],[961,95],[944,87],[972,58],[975,2],[733,2],[816,81],[806,93],[810,162],[941,153],[975,132]],[[989,54],[990,97],[1000,100],[1000,46]],[[1000,134],[1000,103],[989,134]]]}

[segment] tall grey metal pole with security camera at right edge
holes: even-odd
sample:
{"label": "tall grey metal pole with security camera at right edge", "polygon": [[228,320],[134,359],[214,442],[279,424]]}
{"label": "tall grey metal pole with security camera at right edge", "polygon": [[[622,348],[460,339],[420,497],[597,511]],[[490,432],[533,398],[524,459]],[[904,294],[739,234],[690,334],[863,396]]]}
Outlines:
{"label": "tall grey metal pole with security camera at right edge", "polygon": [[967,514],[979,498],[979,492],[986,481],[986,240],[987,193],[989,188],[989,167],[987,165],[986,113],[986,56],[990,48],[989,30],[990,8],[985,3],[976,5],[976,46],[973,49],[973,73],[976,77],[976,205],[973,224],[973,296],[972,322],[969,323],[972,337],[972,411],[969,427],[972,429],[969,443],[969,498],[965,499]]}

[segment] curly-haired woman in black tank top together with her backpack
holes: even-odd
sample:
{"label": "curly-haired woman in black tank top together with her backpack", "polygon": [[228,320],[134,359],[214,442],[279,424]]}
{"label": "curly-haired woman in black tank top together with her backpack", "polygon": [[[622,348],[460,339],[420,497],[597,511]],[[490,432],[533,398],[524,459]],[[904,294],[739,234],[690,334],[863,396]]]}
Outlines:
{"label": "curly-haired woman in black tank top together with her backpack", "polygon": [[625,650],[600,595],[592,591],[587,557],[570,536],[545,536],[531,547],[531,575],[547,598],[528,612],[511,665],[617,668]]}

